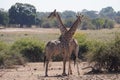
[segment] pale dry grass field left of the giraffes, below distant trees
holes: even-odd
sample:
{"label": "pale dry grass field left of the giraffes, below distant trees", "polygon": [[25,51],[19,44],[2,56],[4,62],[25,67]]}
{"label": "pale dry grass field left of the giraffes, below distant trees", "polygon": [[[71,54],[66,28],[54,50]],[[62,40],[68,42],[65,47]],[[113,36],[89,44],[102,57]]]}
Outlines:
{"label": "pale dry grass field left of the giraffes, below distant trees", "polygon": [[0,30],[0,40],[11,43],[21,38],[35,38],[47,42],[56,39],[59,36],[58,29],[22,29],[22,28],[7,28]]}

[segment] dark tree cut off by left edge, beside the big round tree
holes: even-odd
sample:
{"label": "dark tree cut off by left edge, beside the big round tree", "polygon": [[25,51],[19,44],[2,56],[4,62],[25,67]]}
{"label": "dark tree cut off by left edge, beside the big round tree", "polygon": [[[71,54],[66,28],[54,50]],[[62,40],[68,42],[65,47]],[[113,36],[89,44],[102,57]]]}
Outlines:
{"label": "dark tree cut off by left edge, beside the big round tree", "polygon": [[8,12],[4,11],[3,9],[0,9],[0,24],[1,25],[8,25],[9,23],[9,17]]}

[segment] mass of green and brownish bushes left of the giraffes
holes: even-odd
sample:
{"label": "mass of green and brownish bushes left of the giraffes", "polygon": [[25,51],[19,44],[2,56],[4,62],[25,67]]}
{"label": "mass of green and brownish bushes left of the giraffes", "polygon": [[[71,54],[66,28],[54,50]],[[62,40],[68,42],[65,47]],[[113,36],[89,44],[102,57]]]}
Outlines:
{"label": "mass of green and brownish bushes left of the giraffes", "polygon": [[31,38],[23,38],[7,45],[0,41],[0,68],[24,65],[26,62],[43,61],[44,43]]}

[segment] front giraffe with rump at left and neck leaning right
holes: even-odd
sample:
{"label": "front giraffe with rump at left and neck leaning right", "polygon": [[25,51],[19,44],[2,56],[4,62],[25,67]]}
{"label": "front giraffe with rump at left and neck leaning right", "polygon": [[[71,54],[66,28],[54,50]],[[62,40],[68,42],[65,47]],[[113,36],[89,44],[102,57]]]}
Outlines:
{"label": "front giraffe with rump at left and neck leaning right", "polygon": [[[79,21],[81,22],[81,17],[77,17],[77,18],[80,18],[80,19],[76,19],[75,23],[72,25],[71,28],[75,27],[77,28],[76,24],[79,23]],[[71,29],[70,29],[71,30]],[[75,32],[75,29],[73,28],[73,31]],[[72,30],[71,30],[72,32]],[[66,32],[67,33],[67,32]],[[70,32],[69,32],[70,33]],[[72,32],[73,33],[73,32]],[[67,33],[68,34],[68,33]],[[65,34],[66,35],[66,34]],[[73,35],[72,35],[73,36]],[[72,39],[72,38],[71,38]],[[67,58],[68,58],[68,61],[69,61],[69,72],[68,73],[72,73],[70,70],[71,70],[71,66],[70,66],[70,53],[71,53],[71,50],[69,49],[70,46],[71,46],[71,39],[68,38],[68,40],[65,38],[65,36],[59,38],[59,40],[55,40],[55,41],[50,41],[47,43],[46,47],[45,47],[45,57],[44,57],[44,64],[46,62],[46,71],[45,71],[45,76],[48,76],[47,72],[48,72],[48,64],[49,64],[49,60],[50,58],[56,54],[56,53],[62,53],[64,55],[63,57],[63,73],[62,75],[63,76],[66,76],[66,61],[67,61]],[[54,49],[54,46],[56,46],[56,48]],[[51,49],[53,48],[53,49]],[[50,51],[51,50],[51,51]],[[55,50],[55,51],[54,51]]]}

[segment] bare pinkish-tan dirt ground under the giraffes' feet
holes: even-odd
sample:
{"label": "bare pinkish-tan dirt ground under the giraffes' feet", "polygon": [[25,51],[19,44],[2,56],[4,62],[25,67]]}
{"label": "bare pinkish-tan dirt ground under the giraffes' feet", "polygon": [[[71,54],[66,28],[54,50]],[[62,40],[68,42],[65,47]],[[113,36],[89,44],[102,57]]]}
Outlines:
{"label": "bare pinkish-tan dirt ground under the giraffes' feet", "polygon": [[43,63],[27,63],[25,66],[17,66],[14,69],[0,69],[0,80],[120,80],[120,74],[85,74],[90,69],[82,70],[82,68],[87,66],[86,62],[81,62],[80,75],[78,75],[77,68],[72,63],[73,74],[62,76],[62,62],[50,62],[49,76],[44,77]]}

